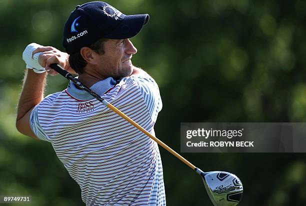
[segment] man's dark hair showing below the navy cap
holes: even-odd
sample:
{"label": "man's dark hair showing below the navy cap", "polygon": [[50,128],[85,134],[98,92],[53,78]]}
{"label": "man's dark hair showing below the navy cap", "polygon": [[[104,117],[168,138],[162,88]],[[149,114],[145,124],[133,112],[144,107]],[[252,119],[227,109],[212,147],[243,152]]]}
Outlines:
{"label": "man's dark hair showing below the navy cap", "polygon": [[[93,43],[91,43],[88,47],[94,50],[98,54],[104,54],[104,42],[106,41],[105,38],[100,38]],[[80,74],[84,72],[84,68],[87,65],[87,62],[82,57],[80,52],[72,53],[69,55],[69,65],[73,70]]]}

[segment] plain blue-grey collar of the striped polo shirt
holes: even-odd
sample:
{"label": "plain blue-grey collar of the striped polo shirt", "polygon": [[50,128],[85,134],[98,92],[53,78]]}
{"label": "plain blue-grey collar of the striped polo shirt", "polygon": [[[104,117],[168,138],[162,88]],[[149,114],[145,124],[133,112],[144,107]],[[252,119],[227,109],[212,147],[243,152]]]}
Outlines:
{"label": "plain blue-grey collar of the striped polo shirt", "polygon": [[[94,83],[92,86],[90,86],[90,89],[101,96],[108,89],[112,88],[116,83],[117,81],[115,79],[113,79],[112,77],[108,77],[108,78],[105,78],[103,80],[100,80]],[[89,99],[94,98],[87,91],[78,89],[72,81],[69,82],[66,91],[72,97],[79,99],[79,100],[89,100]]]}

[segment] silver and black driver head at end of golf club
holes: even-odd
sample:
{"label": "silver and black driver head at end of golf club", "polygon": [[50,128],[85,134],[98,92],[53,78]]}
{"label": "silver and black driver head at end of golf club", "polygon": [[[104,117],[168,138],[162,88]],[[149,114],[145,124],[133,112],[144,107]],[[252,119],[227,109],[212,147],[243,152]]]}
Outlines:
{"label": "silver and black driver head at end of golf club", "polygon": [[200,175],[214,206],[234,206],[239,203],[243,187],[236,175],[226,171],[201,172]]}

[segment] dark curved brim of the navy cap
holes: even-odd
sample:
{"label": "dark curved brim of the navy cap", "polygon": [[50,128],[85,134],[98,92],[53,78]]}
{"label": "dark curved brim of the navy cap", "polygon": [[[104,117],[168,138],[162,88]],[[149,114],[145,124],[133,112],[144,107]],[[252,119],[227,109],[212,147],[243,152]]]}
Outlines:
{"label": "dark curved brim of the navy cap", "polygon": [[125,15],[120,24],[111,32],[104,34],[103,37],[113,39],[131,38],[139,33],[148,20],[148,14]]}

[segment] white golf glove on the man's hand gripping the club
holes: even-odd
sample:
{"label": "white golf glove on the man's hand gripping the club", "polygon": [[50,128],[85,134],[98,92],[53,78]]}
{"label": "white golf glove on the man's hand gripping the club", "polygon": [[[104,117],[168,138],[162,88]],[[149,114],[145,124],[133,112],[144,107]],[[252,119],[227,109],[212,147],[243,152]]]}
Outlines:
{"label": "white golf glove on the man's hand gripping the club", "polygon": [[26,63],[26,68],[33,69],[33,71],[36,73],[45,72],[45,69],[38,63],[38,56],[42,52],[35,53],[32,58],[33,50],[41,46],[42,45],[39,45],[37,43],[30,43],[25,47],[22,53],[22,59]]}

